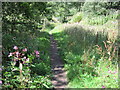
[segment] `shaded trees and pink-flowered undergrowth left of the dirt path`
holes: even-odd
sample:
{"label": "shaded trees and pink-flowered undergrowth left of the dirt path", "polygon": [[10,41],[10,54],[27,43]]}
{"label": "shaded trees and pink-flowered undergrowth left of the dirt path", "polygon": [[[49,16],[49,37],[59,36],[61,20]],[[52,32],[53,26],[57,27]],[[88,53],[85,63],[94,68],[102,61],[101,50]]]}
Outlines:
{"label": "shaded trees and pink-flowered undergrowth left of the dirt path", "polygon": [[52,87],[50,38],[47,32],[38,29],[43,22],[37,20],[41,19],[44,7],[36,5],[39,4],[3,3],[3,88]]}

